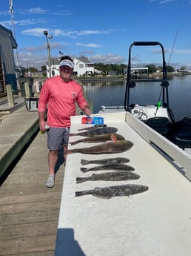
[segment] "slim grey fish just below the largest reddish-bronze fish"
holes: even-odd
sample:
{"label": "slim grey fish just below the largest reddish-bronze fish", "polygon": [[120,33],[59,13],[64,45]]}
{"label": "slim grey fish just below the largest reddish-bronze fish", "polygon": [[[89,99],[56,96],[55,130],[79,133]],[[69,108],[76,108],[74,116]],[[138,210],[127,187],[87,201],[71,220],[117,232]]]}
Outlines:
{"label": "slim grey fish just below the largest reddish-bronze fish", "polygon": [[109,165],[112,163],[129,163],[129,158],[116,157],[116,158],[105,158],[101,160],[84,160],[81,159],[81,165],[98,164],[98,165]]}

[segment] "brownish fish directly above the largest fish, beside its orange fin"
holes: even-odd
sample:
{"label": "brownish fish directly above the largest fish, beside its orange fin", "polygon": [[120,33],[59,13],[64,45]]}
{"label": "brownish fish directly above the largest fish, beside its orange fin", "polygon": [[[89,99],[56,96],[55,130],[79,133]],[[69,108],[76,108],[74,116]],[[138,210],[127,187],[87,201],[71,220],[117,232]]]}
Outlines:
{"label": "brownish fish directly above the largest fish, beside its orange fin", "polygon": [[70,145],[76,145],[80,142],[92,143],[92,142],[107,142],[108,140],[125,140],[120,134],[115,134],[115,139],[113,139],[113,134],[101,134],[96,136],[87,137],[81,140],[76,140],[70,142]]}

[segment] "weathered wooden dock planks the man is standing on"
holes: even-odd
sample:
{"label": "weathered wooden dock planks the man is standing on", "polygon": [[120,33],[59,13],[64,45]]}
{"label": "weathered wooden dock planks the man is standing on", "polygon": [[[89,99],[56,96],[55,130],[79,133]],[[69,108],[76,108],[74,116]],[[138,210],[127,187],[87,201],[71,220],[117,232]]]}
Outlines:
{"label": "weathered wooden dock planks the man is standing on", "polygon": [[[37,134],[0,188],[0,255],[53,256],[64,178],[47,188],[47,134]],[[60,165],[60,166],[59,166]]]}

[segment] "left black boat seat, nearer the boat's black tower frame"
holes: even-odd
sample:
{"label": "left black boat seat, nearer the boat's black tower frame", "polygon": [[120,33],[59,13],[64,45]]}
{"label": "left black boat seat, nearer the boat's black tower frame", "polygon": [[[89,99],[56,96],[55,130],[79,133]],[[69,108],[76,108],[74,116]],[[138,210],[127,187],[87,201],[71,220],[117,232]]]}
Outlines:
{"label": "left black boat seat, nearer the boat's black tower frame", "polygon": [[167,117],[151,117],[147,119],[145,122],[146,125],[153,128],[153,130],[157,131],[159,134],[167,137],[167,133],[170,130],[170,120]]}

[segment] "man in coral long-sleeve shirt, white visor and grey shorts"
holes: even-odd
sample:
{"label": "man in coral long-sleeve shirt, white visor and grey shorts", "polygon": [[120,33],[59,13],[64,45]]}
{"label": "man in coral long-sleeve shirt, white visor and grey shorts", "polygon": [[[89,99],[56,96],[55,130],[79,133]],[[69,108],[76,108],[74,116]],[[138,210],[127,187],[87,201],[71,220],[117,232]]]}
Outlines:
{"label": "man in coral long-sleeve shirt, white visor and grey shorts", "polygon": [[[77,82],[71,79],[74,63],[70,56],[61,58],[60,76],[47,79],[41,89],[38,101],[39,128],[46,131],[45,125],[50,128],[47,131],[47,147],[49,177],[46,186],[52,188],[55,181],[55,167],[58,160],[58,150],[64,146],[67,149],[70,133],[70,116],[76,115],[76,102],[79,108],[87,116],[91,111],[84,94]],[[47,122],[45,119],[47,109]],[[64,156],[66,160],[66,156]]]}

